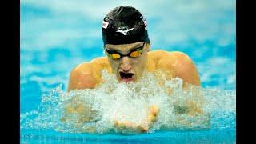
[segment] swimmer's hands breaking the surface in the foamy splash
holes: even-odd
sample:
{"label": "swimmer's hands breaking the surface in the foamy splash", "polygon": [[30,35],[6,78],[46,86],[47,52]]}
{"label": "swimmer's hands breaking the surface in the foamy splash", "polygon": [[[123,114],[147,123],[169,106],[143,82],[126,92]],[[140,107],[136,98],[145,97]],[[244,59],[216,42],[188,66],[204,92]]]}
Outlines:
{"label": "swimmer's hands breaking the surface in the foamy splash", "polygon": [[114,126],[118,131],[130,131],[138,133],[146,133],[149,131],[150,126],[157,121],[159,114],[158,106],[150,106],[149,114],[142,123],[135,123],[129,121],[114,121]]}

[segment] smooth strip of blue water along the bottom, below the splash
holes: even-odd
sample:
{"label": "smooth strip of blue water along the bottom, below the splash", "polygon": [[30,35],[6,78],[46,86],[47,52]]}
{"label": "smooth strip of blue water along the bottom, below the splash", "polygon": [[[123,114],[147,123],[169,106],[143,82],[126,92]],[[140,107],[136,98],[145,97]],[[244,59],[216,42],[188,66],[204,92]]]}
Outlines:
{"label": "smooth strip of blue water along the bottom, below the splash", "polygon": [[172,130],[154,134],[62,134],[53,130],[22,130],[21,142],[88,143],[235,143],[234,129]]}

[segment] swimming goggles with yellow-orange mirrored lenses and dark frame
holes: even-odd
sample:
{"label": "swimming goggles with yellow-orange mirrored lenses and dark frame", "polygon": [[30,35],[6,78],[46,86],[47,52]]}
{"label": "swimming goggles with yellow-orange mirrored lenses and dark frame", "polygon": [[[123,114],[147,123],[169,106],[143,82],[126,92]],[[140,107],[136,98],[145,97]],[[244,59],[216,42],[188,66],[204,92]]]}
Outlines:
{"label": "swimming goggles with yellow-orange mirrored lenses and dark frame", "polygon": [[126,56],[128,56],[130,58],[137,58],[140,55],[142,55],[144,44],[145,44],[145,42],[143,43],[143,45],[141,47],[131,50],[130,53],[126,54],[126,55],[118,53],[117,51],[114,51],[114,50],[107,50],[106,48],[105,48],[105,50],[106,50],[107,56],[109,56],[112,59],[119,59],[119,58],[126,57]]}

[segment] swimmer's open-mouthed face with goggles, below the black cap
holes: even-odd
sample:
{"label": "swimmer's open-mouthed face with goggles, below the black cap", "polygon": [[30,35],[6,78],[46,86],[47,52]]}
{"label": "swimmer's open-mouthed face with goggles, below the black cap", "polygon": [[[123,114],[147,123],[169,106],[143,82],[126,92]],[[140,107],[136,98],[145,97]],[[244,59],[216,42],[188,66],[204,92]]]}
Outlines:
{"label": "swimmer's open-mouthed face with goggles, below the black cap", "polygon": [[[105,45],[105,53],[107,54],[108,61],[119,82],[135,82],[142,77],[142,73],[146,67],[148,51],[150,51],[150,44],[146,42]],[[121,56],[119,58],[120,55],[126,54],[130,54],[130,56]]]}

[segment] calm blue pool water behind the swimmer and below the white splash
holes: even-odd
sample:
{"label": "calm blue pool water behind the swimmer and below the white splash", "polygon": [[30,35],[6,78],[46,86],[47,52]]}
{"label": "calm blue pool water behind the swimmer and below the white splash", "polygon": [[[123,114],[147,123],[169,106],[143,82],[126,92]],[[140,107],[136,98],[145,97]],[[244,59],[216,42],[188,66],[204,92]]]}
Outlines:
{"label": "calm blue pool water behind the swimmer and below the white splash", "polygon": [[[56,86],[62,84],[62,90],[66,91],[74,66],[104,56],[102,18],[119,5],[135,6],[146,15],[151,50],[188,54],[198,67],[202,87],[233,91],[230,102],[235,105],[235,1],[24,0],[21,1],[21,114],[38,110],[42,94],[50,93]],[[210,130],[156,130],[153,134],[134,135],[21,129],[21,142],[235,143],[235,114],[230,120],[226,117],[216,120],[218,125],[222,122],[223,126]]]}

